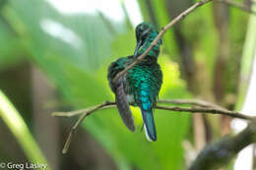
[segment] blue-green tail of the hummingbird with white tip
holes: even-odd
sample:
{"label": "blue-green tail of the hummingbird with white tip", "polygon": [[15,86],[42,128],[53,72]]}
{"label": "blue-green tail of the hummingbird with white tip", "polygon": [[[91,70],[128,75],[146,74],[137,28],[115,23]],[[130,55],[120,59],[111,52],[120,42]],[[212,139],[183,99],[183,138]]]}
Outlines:
{"label": "blue-green tail of the hummingbird with white tip", "polygon": [[141,108],[142,117],[144,121],[144,130],[145,130],[146,137],[150,142],[156,142],[157,133],[156,133],[151,101],[147,96],[142,96],[141,101],[142,102],[141,102],[140,108]]}

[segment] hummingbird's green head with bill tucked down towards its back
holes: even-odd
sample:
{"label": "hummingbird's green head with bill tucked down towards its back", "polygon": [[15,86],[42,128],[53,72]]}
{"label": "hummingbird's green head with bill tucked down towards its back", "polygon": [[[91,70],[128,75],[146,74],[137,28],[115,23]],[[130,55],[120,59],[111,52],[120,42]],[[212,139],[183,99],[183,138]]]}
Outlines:
{"label": "hummingbird's green head with bill tucked down towards its back", "polygon": [[[159,31],[157,28],[155,28],[150,23],[141,23],[135,28],[136,33],[136,39],[137,39],[137,45],[135,48],[134,56],[136,57],[138,55],[138,52],[142,46],[146,44],[150,44],[156,36],[159,34]],[[161,40],[160,40],[161,43]]]}

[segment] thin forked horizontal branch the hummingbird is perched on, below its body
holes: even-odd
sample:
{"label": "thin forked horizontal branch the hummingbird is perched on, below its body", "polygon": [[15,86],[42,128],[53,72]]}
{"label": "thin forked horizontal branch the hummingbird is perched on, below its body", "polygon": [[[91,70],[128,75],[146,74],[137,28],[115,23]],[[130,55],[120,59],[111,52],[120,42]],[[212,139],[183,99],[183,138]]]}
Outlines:
{"label": "thin forked horizontal branch the hummingbird is perched on, below its body", "polygon": [[[190,112],[190,113],[222,114],[222,115],[230,116],[232,118],[239,118],[239,119],[248,120],[248,121],[251,121],[254,119],[254,117],[252,117],[252,116],[247,116],[245,114],[242,114],[242,113],[239,113],[236,111],[230,111],[230,110],[224,109],[223,107],[216,105],[214,103],[204,101],[204,100],[199,100],[199,99],[175,99],[175,100],[174,99],[173,100],[164,99],[164,100],[159,100],[158,103],[191,105],[191,107],[157,105],[156,109],[160,109],[160,110],[169,110],[169,111],[175,111],[175,112]],[[62,152],[67,153],[74,134],[76,133],[78,127],[81,125],[81,123],[84,121],[84,119],[87,116],[91,115],[92,113],[94,113],[97,110],[112,108],[112,107],[116,107],[115,102],[104,101],[100,104],[97,104],[96,106],[86,108],[86,109],[81,109],[81,110],[71,111],[71,112],[54,112],[54,113],[52,113],[52,116],[55,116],[55,117],[73,117],[73,116],[82,114],[79,117],[76,124],[72,127],[72,129],[69,133],[68,139],[65,142]]]}

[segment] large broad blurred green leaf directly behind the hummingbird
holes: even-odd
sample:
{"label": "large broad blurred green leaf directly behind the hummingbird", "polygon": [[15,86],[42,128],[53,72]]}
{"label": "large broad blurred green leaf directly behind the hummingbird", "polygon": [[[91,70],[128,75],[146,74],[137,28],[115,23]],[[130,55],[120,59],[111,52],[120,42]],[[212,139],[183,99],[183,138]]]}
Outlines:
{"label": "large broad blurred green leaf directly behind the hummingbird", "polygon": [[[106,82],[107,66],[112,60],[133,53],[135,38],[132,29],[119,24],[113,32],[105,22],[109,22],[110,27],[115,23],[104,21],[106,19],[100,15],[63,16],[45,1],[10,1],[4,14],[19,33],[19,39],[28,52],[26,57],[47,75],[74,109],[113,99]],[[72,44],[58,36],[53,37],[44,31],[45,22],[75,32],[80,41]],[[160,97],[187,97],[185,84],[179,80],[177,65],[164,58],[160,63],[164,81],[168,83],[163,85]],[[188,115],[155,112],[158,142],[147,142],[140,131],[140,123],[135,134],[128,132],[116,109],[90,116],[84,127],[113,156],[120,169],[133,166],[180,169],[184,166],[181,144],[189,127]]]}

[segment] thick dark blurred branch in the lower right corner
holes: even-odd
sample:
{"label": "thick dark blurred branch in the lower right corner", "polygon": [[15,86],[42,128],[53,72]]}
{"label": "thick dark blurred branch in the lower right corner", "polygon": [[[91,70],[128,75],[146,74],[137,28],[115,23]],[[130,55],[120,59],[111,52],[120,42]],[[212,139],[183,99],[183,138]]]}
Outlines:
{"label": "thick dark blurred branch in the lower right corner", "polygon": [[224,136],[219,142],[208,144],[192,162],[189,170],[219,169],[245,146],[256,142],[255,119],[241,133]]}

